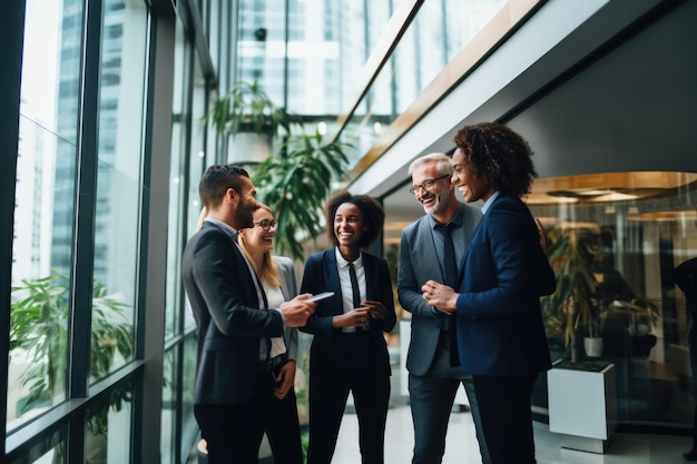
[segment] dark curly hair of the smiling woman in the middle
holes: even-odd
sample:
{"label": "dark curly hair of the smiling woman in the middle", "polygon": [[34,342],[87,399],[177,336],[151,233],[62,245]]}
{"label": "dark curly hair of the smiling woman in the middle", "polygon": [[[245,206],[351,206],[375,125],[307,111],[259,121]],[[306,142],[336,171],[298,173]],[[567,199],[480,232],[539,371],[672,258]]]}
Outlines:
{"label": "dark curly hair of the smiling woman in the middle", "polygon": [[334,216],[338,207],[345,203],[357,206],[363,216],[363,224],[367,230],[363,233],[359,246],[365,249],[380,237],[380,231],[385,224],[385,210],[380,201],[367,195],[351,195],[348,190],[340,190],[334,194],[325,207],[327,238],[334,246],[338,245],[338,239],[334,234]]}

